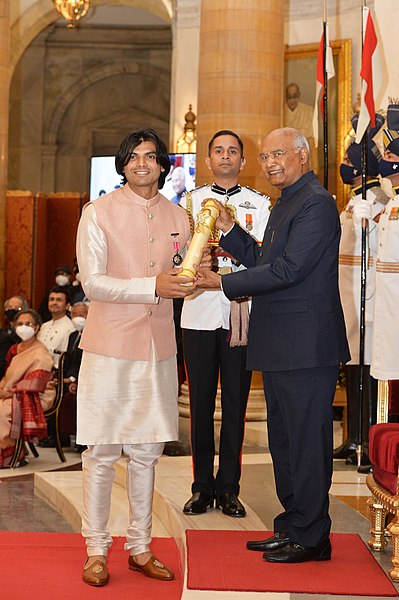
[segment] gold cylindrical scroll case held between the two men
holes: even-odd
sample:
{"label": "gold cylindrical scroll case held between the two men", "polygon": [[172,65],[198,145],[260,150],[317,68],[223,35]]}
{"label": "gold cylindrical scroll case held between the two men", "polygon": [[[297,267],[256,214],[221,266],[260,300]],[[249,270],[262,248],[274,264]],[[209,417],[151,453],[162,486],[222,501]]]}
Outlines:
{"label": "gold cylindrical scroll case held between the two men", "polygon": [[197,215],[194,235],[182,262],[182,271],[177,275],[178,277],[195,277],[196,270],[193,265],[199,265],[201,262],[203,254],[202,249],[207,244],[209,236],[215,227],[219,212],[213,198],[207,198],[204,206]]}

